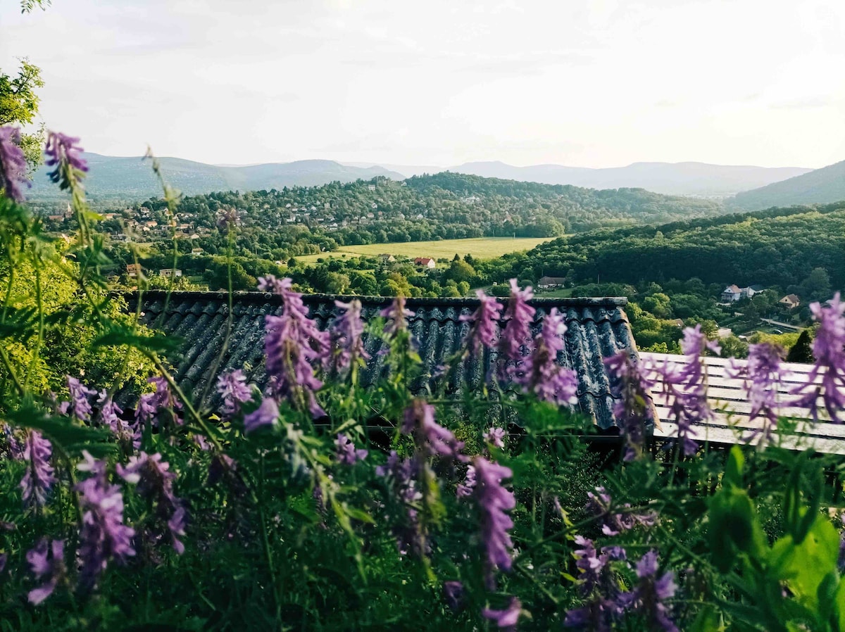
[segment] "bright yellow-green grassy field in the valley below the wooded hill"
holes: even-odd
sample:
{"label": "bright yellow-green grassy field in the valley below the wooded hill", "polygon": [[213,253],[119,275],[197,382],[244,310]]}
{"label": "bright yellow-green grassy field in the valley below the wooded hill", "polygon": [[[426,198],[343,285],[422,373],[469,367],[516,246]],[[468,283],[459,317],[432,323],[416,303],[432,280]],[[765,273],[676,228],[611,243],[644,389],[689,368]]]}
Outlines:
{"label": "bright yellow-green grassy field in the valley below the wooded hill", "polygon": [[402,257],[430,257],[432,259],[452,259],[455,253],[462,256],[472,254],[475,259],[495,259],[503,254],[517,250],[531,250],[537,244],[548,242],[549,238],[478,237],[477,239],[444,239],[439,242],[404,242],[372,243],[368,246],[344,246],[333,253],[305,254],[297,259],[305,264],[316,263],[325,257],[357,257],[365,254],[373,256],[381,253]]}

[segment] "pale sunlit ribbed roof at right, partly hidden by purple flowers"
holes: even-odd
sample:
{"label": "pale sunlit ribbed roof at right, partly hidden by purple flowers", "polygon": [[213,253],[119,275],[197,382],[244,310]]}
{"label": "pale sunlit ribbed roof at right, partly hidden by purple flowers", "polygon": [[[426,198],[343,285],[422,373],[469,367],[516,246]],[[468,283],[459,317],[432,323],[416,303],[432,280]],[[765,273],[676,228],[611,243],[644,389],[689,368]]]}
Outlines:
{"label": "pale sunlit ribbed roof at right, partly hidden by purple flowers", "polygon": [[[664,362],[679,365],[688,362],[685,356],[668,353],[641,351],[640,357],[646,364],[657,364],[658,366],[662,366]],[[716,419],[706,424],[699,424],[695,428],[698,435],[697,439],[709,441],[711,444],[744,442],[750,438],[754,430],[761,428],[760,419],[751,421],[751,404],[745,390],[744,380],[732,378],[728,375],[726,371],[728,362],[730,362],[728,359],[722,357],[705,357],[703,359],[707,375],[707,400],[711,408],[716,411]],[[747,364],[746,360],[735,360],[733,362],[739,368],[744,368]],[[785,374],[782,382],[777,385],[777,400],[782,404],[778,409],[778,414],[796,420],[804,420],[799,422],[796,433],[784,441],[783,447],[812,447],[819,452],[845,455],[845,425],[831,423],[824,419],[813,422],[810,420],[806,409],[788,405],[789,401],[796,398],[796,395],[791,395],[790,391],[799,384],[806,383],[807,374],[810,373],[812,365],[784,362],[782,367],[788,373]],[[659,374],[656,377],[659,378]],[[816,379],[816,382],[818,381],[820,381],[820,378]],[[658,379],[657,384],[651,391],[651,396],[657,407],[657,417],[660,419],[662,428],[655,429],[654,436],[656,439],[669,439],[677,436],[678,427],[669,414],[666,399],[661,390],[662,386]],[[751,443],[756,443],[757,440],[759,440],[759,436],[751,439]]]}

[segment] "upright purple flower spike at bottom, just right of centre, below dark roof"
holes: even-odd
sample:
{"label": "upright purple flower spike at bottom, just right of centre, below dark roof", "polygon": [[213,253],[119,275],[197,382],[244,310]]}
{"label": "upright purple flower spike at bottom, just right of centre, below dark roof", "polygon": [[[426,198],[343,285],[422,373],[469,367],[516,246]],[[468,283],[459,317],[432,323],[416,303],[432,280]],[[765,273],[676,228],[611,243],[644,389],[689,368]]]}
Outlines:
{"label": "upright purple flower spike at bottom, just right of centre, below dark roof", "polygon": [[487,549],[487,584],[493,587],[493,569],[510,570],[510,549],[514,544],[508,530],[514,522],[505,512],[514,509],[514,493],[502,486],[503,478],[510,478],[509,468],[490,462],[482,456],[472,460],[475,466],[475,499],[481,511],[481,533]]}

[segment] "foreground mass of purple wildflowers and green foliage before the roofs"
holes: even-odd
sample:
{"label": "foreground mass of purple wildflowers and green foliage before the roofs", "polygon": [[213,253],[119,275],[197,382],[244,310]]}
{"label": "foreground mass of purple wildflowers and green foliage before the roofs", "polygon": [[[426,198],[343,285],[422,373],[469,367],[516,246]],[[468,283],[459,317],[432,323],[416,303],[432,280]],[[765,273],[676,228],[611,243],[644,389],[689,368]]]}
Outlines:
{"label": "foreground mass of purple wildflowers and green foliage before the roofs", "polygon": [[[291,281],[268,275],[259,288],[282,308],[265,317],[267,388],[237,370],[190,400],[168,370],[176,341],[107,309],[75,139],[47,145],[79,223],[64,244],[19,204],[7,129],[0,629],[845,629],[842,458],[780,447],[793,423],[771,399],[777,346],[752,347],[743,373],[758,447],[697,440],[712,414],[701,357],[719,352],[697,327],[683,370],[603,358],[621,437],[588,449],[595,428],[571,410],[578,380],[558,362],[564,316],[532,335],[532,292],[515,281],[504,304],[480,296],[453,359],[495,350],[483,387],[452,399],[446,366],[423,399],[401,298],[369,324],[341,303],[321,331]],[[234,241],[237,214],[220,219]],[[58,279],[72,289],[52,308]],[[845,304],[812,313],[815,373],[787,403],[841,419]],[[368,389],[363,332],[381,337],[388,369]],[[68,346],[61,366],[51,336]],[[92,353],[117,370],[84,373]],[[679,428],[662,450],[656,372]]]}

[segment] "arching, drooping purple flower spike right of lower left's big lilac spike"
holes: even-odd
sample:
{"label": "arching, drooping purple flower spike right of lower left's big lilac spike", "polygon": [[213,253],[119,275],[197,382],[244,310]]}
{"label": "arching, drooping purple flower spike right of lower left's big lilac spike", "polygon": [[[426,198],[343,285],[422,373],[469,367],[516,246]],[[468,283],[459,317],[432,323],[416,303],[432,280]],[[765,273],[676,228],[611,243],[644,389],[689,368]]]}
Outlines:
{"label": "arching, drooping purple flower spike right of lower left's big lilac spike", "polygon": [[173,548],[181,555],[185,546],[177,536],[184,535],[185,509],[183,500],[173,493],[176,474],[170,471],[170,464],[162,461],[158,453],[141,452],[130,456],[126,467],[118,463],[116,469],[119,477],[136,486],[142,498],[155,503],[158,515],[167,523]]}

